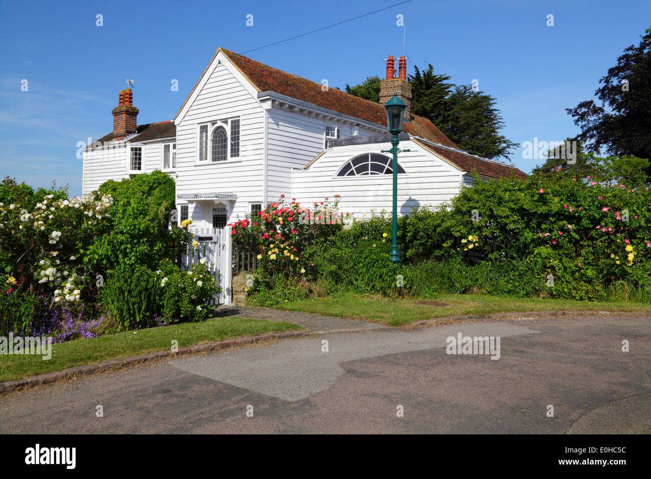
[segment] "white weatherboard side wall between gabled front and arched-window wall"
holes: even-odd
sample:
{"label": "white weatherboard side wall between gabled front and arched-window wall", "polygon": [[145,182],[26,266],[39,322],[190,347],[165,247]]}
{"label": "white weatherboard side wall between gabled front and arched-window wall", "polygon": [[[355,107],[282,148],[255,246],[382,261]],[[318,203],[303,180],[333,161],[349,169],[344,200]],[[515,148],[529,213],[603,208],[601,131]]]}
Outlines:
{"label": "white weatherboard side wall between gabled front and arched-window wall", "polygon": [[[320,115],[322,116],[322,115]],[[335,119],[317,118],[284,108],[268,109],[267,201],[290,196],[292,169],[302,168],[324,150],[326,125],[337,126],[339,138],[352,136],[352,126]],[[359,126],[359,136],[375,134]]]}

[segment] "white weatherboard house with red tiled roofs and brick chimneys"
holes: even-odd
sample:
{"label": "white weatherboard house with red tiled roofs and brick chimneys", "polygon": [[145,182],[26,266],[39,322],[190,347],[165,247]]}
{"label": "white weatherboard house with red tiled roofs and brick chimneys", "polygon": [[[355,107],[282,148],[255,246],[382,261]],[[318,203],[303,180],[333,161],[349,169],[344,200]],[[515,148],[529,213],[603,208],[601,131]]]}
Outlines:
{"label": "white weatherboard house with red tiled roofs and brick chimneys", "polygon": [[484,177],[519,169],[461,151],[430,121],[411,115],[406,61],[387,61],[380,104],[219,48],[171,121],[137,125],[130,89],[113,131],[83,154],[83,192],[160,169],[176,181],[178,221],[221,228],[279,196],[309,205],[340,195],[355,217],[391,210],[391,137],[383,104],[407,104],[398,157],[400,214],[439,205]]}

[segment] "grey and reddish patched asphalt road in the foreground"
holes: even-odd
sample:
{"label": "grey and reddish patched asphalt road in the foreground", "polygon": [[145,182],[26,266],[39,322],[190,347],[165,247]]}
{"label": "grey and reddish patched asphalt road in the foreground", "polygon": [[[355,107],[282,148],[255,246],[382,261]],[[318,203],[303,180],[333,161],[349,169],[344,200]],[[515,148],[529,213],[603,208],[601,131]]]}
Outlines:
{"label": "grey and reddish patched asphalt road in the foreground", "polygon": [[[613,314],[318,334],[14,392],[0,432],[651,433],[650,332]],[[499,337],[499,359],[447,354],[458,333]]]}

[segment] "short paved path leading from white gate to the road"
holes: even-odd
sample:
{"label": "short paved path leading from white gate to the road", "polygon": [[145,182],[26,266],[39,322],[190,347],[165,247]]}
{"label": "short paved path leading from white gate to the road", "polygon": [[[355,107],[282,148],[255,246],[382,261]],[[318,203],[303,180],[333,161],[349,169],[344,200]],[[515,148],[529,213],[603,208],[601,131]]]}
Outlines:
{"label": "short paved path leading from white gate to the road", "polygon": [[215,316],[240,316],[267,319],[269,321],[287,321],[296,323],[311,331],[340,332],[359,331],[366,329],[381,329],[388,326],[376,323],[366,323],[358,319],[345,319],[333,316],[322,316],[300,311],[273,310],[271,308],[251,308],[249,306],[217,306]]}

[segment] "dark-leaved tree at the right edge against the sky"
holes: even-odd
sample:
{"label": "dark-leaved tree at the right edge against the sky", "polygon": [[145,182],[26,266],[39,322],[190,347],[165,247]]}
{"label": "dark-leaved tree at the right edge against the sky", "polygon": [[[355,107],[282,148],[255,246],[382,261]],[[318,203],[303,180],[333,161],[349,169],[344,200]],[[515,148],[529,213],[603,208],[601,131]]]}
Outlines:
{"label": "dark-leaved tree at the right edge against the sky", "polygon": [[[619,158],[651,158],[651,28],[641,38],[599,80],[603,86],[594,94],[601,106],[585,100],[566,109],[581,128],[577,138],[593,151],[604,148]],[[649,168],[646,174],[651,175]]]}

